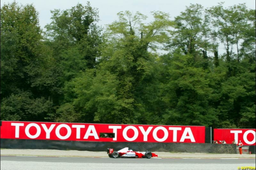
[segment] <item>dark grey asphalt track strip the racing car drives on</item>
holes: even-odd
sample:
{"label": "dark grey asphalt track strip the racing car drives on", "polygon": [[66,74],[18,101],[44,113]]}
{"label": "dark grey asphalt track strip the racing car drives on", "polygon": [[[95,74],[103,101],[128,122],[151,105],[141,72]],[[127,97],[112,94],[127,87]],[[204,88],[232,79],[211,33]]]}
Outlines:
{"label": "dark grey asphalt track strip the racing car drives on", "polygon": [[42,157],[42,156],[1,156],[1,161],[69,162],[69,163],[146,163],[146,164],[235,164],[255,163],[255,159],[172,159],[172,158],[88,158],[88,157]]}

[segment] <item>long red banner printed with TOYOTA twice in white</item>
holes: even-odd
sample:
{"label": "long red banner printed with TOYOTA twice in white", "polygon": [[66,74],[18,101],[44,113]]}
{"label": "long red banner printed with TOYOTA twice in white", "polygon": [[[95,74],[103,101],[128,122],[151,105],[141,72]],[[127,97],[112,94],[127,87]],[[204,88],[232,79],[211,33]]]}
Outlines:
{"label": "long red banner printed with TOYOTA twice in white", "polygon": [[[101,134],[114,134],[102,137]],[[97,142],[204,143],[204,126],[2,121],[1,138]]]}

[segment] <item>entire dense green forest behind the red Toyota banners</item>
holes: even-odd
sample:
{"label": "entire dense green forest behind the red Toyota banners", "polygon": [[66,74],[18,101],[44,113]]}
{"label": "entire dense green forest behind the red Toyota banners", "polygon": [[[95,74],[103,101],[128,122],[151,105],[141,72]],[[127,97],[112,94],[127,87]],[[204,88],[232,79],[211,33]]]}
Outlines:
{"label": "entire dense green forest behind the red Toyota banners", "polygon": [[1,7],[1,120],[255,128],[254,9],[51,13]]}

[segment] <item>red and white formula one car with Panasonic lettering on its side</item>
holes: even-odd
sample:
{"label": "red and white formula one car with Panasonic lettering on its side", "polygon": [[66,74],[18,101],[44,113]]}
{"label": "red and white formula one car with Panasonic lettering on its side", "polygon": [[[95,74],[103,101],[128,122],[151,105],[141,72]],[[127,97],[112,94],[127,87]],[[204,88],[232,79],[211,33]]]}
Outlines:
{"label": "red and white formula one car with Panasonic lettering on its side", "polygon": [[125,147],[119,151],[114,151],[114,149],[107,149],[107,154],[110,158],[151,158],[158,157],[155,153],[152,152],[139,152],[129,150],[128,147]]}

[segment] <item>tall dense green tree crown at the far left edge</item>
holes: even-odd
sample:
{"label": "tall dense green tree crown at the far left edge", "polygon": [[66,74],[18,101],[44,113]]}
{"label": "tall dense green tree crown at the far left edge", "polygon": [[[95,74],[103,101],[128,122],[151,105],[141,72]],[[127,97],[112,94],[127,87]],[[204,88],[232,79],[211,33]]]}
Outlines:
{"label": "tall dense green tree crown at the far left edge", "polygon": [[[17,88],[28,88],[31,70],[43,60],[37,17],[32,5],[18,6],[14,2],[1,8],[1,94],[4,96]],[[20,84],[22,81],[25,83]]]}

